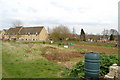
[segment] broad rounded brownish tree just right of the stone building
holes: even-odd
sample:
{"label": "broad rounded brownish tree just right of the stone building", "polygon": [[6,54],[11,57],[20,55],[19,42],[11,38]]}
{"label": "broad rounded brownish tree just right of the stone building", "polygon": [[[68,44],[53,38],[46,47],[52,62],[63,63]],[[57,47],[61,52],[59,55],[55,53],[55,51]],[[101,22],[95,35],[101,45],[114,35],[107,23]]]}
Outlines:
{"label": "broad rounded brownish tree just right of the stone building", "polygon": [[66,38],[70,37],[70,30],[67,26],[59,25],[52,29],[52,32],[50,33],[50,37],[54,41],[62,41],[66,40]]}

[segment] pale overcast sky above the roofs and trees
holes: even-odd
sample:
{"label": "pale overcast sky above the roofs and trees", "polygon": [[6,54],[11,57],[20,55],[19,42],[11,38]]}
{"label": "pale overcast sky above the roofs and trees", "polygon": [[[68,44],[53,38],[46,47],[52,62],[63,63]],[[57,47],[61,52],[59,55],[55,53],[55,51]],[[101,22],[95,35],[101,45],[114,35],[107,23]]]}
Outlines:
{"label": "pale overcast sky above the roofs and trees", "polygon": [[20,20],[26,26],[66,25],[98,34],[118,29],[119,0],[0,0],[0,30]]}

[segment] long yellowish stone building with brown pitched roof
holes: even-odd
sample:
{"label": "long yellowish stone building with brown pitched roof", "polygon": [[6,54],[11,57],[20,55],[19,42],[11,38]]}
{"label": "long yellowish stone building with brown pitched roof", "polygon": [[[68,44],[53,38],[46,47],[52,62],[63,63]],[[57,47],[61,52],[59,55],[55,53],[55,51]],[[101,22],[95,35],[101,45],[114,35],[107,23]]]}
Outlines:
{"label": "long yellowish stone building with brown pitched roof", "polygon": [[10,28],[5,34],[9,40],[46,41],[48,38],[44,26]]}

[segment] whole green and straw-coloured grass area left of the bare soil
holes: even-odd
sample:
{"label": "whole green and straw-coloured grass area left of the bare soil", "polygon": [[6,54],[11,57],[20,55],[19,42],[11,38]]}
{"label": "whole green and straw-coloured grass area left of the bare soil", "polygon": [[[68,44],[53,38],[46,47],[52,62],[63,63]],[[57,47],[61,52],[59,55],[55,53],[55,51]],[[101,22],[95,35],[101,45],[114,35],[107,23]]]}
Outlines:
{"label": "whole green and straw-coloured grass area left of the bare soil", "polygon": [[56,63],[41,57],[41,52],[38,52],[40,46],[26,52],[29,47],[27,44],[3,44],[4,78],[58,78],[58,72],[65,71]]}

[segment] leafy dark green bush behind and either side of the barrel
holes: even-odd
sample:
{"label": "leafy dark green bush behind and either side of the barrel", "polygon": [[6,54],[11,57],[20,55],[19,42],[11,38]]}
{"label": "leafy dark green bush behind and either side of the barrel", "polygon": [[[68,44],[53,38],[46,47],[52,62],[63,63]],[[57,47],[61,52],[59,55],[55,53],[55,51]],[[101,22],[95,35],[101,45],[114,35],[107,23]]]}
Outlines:
{"label": "leafy dark green bush behind and either side of the barrel", "polygon": [[[100,55],[100,76],[104,76],[107,73],[109,73],[109,67],[115,63],[120,65],[118,55],[101,54]],[[84,76],[84,63],[80,61],[75,66],[73,66],[70,71],[70,76],[73,76],[73,77]]]}

